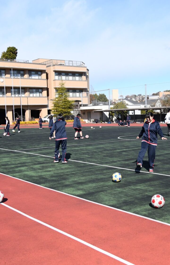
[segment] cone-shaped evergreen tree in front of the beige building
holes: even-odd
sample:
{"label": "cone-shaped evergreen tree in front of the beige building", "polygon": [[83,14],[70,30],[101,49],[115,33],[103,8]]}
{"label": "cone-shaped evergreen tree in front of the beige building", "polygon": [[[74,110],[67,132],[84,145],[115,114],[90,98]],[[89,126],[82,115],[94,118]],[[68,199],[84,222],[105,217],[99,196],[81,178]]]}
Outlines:
{"label": "cone-shaped evergreen tree in front of the beige building", "polygon": [[59,113],[63,114],[63,117],[71,115],[73,110],[73,100],[69,100],[68,92],[65,87],[65,83],[61,81],[59,87],[56,87],[56,98],[53,100],[52,114],[58,115]]}

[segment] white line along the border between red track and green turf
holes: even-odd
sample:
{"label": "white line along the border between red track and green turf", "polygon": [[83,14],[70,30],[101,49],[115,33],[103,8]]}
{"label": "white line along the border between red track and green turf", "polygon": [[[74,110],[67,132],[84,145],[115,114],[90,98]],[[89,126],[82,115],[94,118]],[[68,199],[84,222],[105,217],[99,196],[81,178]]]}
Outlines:
{"label": "white line along the border between red track and green turf", "polygon": [[[36,183],[33,183],[33,182],[29,182],[29,181],[24,180],[24,179],[19,179],[19,178],[16,178],[16,177],[13,177],[13,176],[4,174],[4,173],[0,173],[0,174],[2,174],[4,176],[8,176],[8,177],[13,178],[13,179],[17,179],[17,180],[20,180],[20,181],[29,183],[29,184],[32,184],[32,185],[35,185],[35,186],[38,186],[38,187],[43,188],[43,189],[49,189],[50,191],[58,192],[58,193],[61,193],[61,194],[64,194],[64,195],[67,195],[67,196],[70,196],[70,197],[77,198],[79,200],[87,201],[87,202],[90,202],[90,203],[93,203],[93,204],[97,204],[97,205],[100,205],[100,206],[107,207],[109,209],[113,209],[113,210],[116,210],[116,211],[120,211],[122,213],[131,214],[131,215],[134,215],[134,216],[137,216],[137,217],[140,217],[140,218],[144,218],[144,219],[147,219],[147,220],[150,220],[150,221],[153,221],[153,222],[157,222],[157,223],[160,223],[160,224],[166,224],[167,226],[170,226],[170,224],[168,224],[168,223],[165,223],[165,222],[162,222],[162,221],[159,221],[159,220],[155,220],[155,219],[152,219],[152,218],[149,218],[149,217],[145,217],[143,215],[134,214],[134,213],[131,213],[131,212],[128,212],[128,211],[125,211],[125,210],[121,210],[121,209],[118,209],[118,208],[114,208],[112,206],[108,206],[108,205],[101,204],[99,202],[90,201],[90,200],[87,200],[87,199],[84,199],[84,198],[81,198],[81,197],[78,197],[78,196],[75,196],[75,195],[71,195],[71,194],[68,194],[68,193],[65,193],[65,192],[62,192],[62,191],[57,191],[56,189],[51,189],[51,188],[48,188],[48,187],[44,187],[44,186],[41,186],[39,184],[36,184]],[[2,204],[2,203],[0,203],[0,204]]]}

